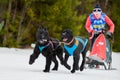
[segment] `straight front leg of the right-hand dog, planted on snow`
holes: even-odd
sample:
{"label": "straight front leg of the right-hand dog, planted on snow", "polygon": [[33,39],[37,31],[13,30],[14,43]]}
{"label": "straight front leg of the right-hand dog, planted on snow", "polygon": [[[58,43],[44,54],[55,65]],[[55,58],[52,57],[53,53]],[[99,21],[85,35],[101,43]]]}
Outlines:
{"label": "straight front leg of the right-hand dog, planted on snow", "polygon": [[75,73],[75,70],[79,68],[78,67],[79,59],[80,59],[79,53],[73,56],[73,69],[71,70],[71,73]]}

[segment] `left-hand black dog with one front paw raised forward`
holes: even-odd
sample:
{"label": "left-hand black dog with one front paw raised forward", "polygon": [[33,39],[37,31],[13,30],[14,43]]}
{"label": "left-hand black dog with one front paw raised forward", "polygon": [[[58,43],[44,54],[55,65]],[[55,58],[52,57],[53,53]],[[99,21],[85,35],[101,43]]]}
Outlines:
{"label": "left-hand black dog with one front paw raised forward", "polygon": [[61,64],[63,64],[63,48],[57,39],[49,37],[48,31],[45,28],[38,29],[37,43],[33,54],[30,55],[29,64],[33,64],[40,53],[46,57],[45,70],[43,70],[44,72],[50,71],[51,61],[55,63],[52,70],[58,70],[56,55],[60,59]]}

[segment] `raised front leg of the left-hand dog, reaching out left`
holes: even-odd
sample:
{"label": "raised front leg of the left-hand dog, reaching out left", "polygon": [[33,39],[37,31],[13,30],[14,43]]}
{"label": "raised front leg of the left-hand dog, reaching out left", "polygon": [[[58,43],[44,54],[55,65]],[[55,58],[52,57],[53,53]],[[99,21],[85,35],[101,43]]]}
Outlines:
{"label": "raised front leg of the left-hand dog, reaching out left", "polygon": [[33,64],[35,62],[35,59],[38,58],[39,54],[40,54],[40,51],[38,49],[38,46],[36,45],[36,47],[34,48],[33,54],[30,55],[29,64]]}

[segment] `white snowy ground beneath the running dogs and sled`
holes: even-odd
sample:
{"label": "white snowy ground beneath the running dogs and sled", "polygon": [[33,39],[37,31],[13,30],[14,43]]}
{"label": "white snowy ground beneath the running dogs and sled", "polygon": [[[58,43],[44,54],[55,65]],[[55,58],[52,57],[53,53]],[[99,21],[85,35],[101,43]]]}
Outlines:
{"label": "white snowy ground beneath the running dogs and sled", "polygon": [[[32,52],[32,49],[0,48],[0,80],[120,80],[120,54],[117,53],[112,56],[112,66],[117,70],[85,69],[71,74],[61,65],[58,71],[42,72],[45,58],[41,55],[29,65]],[[72,64],[72,57],[69,64]]]}

